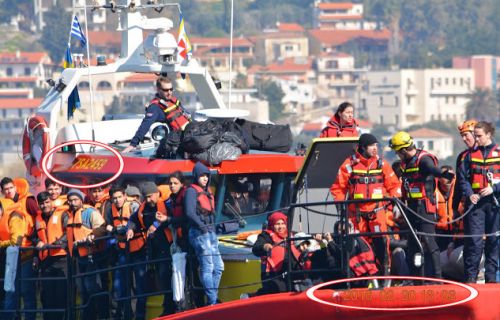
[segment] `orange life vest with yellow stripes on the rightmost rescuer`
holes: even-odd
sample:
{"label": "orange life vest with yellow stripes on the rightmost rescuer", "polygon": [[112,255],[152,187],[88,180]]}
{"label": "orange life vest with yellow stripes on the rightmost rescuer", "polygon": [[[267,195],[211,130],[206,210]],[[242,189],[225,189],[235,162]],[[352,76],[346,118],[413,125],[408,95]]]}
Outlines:
{"label": "orange life vest with yellow stripes on the rightmost rescuer", "polygon": [[[470,163],[470,183],[474,192],[484,189],[500,181],[500,147],[493,146],[490,153],[483,157],[479,148],[469,154]],[[491,173],[492,181],[488,180],[487,174]]]}

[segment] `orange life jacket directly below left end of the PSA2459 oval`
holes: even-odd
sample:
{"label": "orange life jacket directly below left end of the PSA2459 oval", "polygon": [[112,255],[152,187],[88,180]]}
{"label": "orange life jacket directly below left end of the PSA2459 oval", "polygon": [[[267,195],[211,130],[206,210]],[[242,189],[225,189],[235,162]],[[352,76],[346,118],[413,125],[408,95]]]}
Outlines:
{"label": "orange life jacket directly below left end of the PSA2459 oval", "polygon": [[[45,222],[41,212],[36,216],[36,232],[38,239],[43,243],[51,245],[64,236],[63,214],[67,212],[67,207],[56,208],[49,217],[48,223]],[[45,260],[48,256],[65,256],[64,248],[42,250],[39,252],[41,260]]]}

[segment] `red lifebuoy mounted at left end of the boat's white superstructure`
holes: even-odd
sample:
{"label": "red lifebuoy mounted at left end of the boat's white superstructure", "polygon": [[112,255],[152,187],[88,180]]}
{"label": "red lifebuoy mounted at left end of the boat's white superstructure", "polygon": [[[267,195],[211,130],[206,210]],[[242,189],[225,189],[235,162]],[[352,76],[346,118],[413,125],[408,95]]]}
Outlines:
{"label": "red lifebuoy mounted at left end of the boat's white superstructure", "polygon": [[41,161],[49,147],[47,122],[39,116],[30,117],[23,132],[23,160],[31,176],[42,175]]}

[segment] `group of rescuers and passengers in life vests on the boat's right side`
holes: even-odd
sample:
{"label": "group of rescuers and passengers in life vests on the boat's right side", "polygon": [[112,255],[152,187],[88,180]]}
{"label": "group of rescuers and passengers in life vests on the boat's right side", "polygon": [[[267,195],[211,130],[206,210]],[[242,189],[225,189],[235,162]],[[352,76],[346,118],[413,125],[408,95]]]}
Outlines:
{"label": "group of rescuers and passengers in life vests on the boat's right side", "polygon": [[[354,106],[339,105],[320,137],[357,137]],[[343,250],[348,251],[349,274],[310,272],[311,280],[327,281],[346,276],[401,275],[448,278],[476,283],[497,282],[499,268],[500,146],[494,141],[495,127],[485,121],[468,120],[458,131],[466,148],[456,168],[439,166],[430,152],[416,147],[404,131],[390,140],[399,160],[389,164],[379,153],[372,134],[361,134],[355,152],[346,159],[331,185],[335,201],[397,198],[397,202],[365,201],[338,205],[348,217],[348,233],[372,233],[348,237],[341,246],[340,222],[333,234],[293,235],[290,259],[286,254],[287,216],[275,212],[268,217],[253,253],[261,257],[263,286],[251,295],[286,290],[283,276],[292,270],[340,268]],[[405,231],[408,223],[419,243],[409,233],[376,235],[376,232]],[[484,251],[484,254],[483,254]],[[297,280],[294,277],[294,280]],[[374,285],[373,283],[371,285]],[[378,285],[378,284],[375,284]]]}

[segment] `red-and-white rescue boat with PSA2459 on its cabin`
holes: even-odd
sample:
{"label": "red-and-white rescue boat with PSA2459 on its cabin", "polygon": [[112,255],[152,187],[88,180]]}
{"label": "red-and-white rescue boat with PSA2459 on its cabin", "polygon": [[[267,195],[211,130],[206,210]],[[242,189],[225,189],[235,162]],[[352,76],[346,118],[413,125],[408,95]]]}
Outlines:
{"label": "red-and-white rescue boat with PSA2459 on its cabin", "polygon": [[[190,175],[194,162],[192,160],[163,160],[150,157],[158,144],[153,132],[148,134],[146,143],[142,143],[140,151],[120,157],[106,150],[122,150],[128,145],[135,128],[141,119],[96,121],[92,123],[71,123],[62,115],[66,102],[72,90],[82,77],[93,75],[127,73],[167,73],[186,74],[195,87],[200,101],[206,109],[222,110],[226,117],[235,117],[234,111],[228,110],[217,91],[216,85],[206,70],[196,59],[180,63],[176,60],[177,42],[168,32],[173,23],[167,18],[147,18],[144,9],[161,10],[171,4],[141,4],[140,1],[119,0],[116,5],[102,6],[98,10],[109,9],[120,15],[120,30],[122,33],[121,58],[116,62],[84,68],[65,69],[59,79],[54,82],[46,98],[35,115],[28,119],[24,137],[24,160],[27,167],[27,178],[35,190],[42,190],[46,178],[41,162],[48,151],[65,142],[87,140],[89,143],[74,143],[55,150],[47,160],[51,175],[66,183],[82,187],[95,179],[107,179],[122,169],[118,182],[139,183],[144,180],[154,180],[164,183],[166,177],[177,170]],[[147,32],[146,40],[143,33]],[[85,107],[89,106],[84,106]],[[211,112],[207,112],[211,113]],[[217,112],[216,112],[217,113]],[[218,112],[219,114],[221,112]],[[238,116],[241,114],[238,114]],[[97,143],[101,145],[96,145]],[[233,231],[233,234],[221,235],[221,253],[224,255],[226,270],[221,281],[219,297],[226,302],[236,300],[241,293],[255,291],[260,282],[260,261],[251,254],[251,246],[242,236],[244,232],[260,230],[269,212],[278,209],[287,210],[290,204],[297,207],[292,213],[292,229],[308,233],[325,232],[333,229],[338,219],[335,206],[318,204],[316,209],[307,210],[298,204],[323,202],[328,200],[328,188],[335,180],[338,167],[352,152],[356,139],[318,139],[308,151],[307,159],[280,153],[250,152],[242,155],[236,161],[223,161],[210,169],[213,173],[212,187],[216,195],[216,221],[221,227],[219,231]],[[333,146],[332,146],[333,144]],[[243,186],[243,189],[241,188]],[[255,200],[255,205],[249,209],[235,210],[231,206],[234,193],[245,193]],[[228,201],[229,200],[229,201]],[[328,215],[318,214],[325,211]],[[227,223],[225,223],[227,222]],[[230,225],[231,224],[231,225]],[[235,234],[234,234],[235,233]],[[499,292],[497,285],[472,286],[479,292],[473,300],[468,300],[454,309],[416,311],[415,316],[432,314],[433,318],[477,318],[498,315],[494,310],[498,304],[490,303],[493,292]],[[432,306],[435,301],[428,297],[438,295],[445,286],[421,286],[416,289],[391,288],[392,293],[384,293],[385,304],[380,306],[381,294],[374,298],[371,291],[336,292],[323,290],[318,294],[279,294],[271,297],[252,298],[244,301],[233,301],[218,306],[188,311],[182,314],[184,318],[220,319],[237,316],[238,318],[277,317],[303,319],[320,316],[328,318],[360,318],[374,316],[376,318],[395,318],[408,315],[408,310],[389,312],[354,310],[331,303],[347,303],[349,306],[364,307],[401,307],[398,301],[408,300],[403,307]],[[443,291],[446,299],[467,297],[464,288],[446,287]],[[406,290],[406,291],[404,291]],[[413,290],[413,291],[411,291]],[[427,290],[427,291],[426,291]],[[465,291],[464,291],[465,290]],[[353,292],[357,292],[355,295]],[[384,295],[382,294],[382,295]],[[427,294],[427,295],[426,295]],[[474,295],[474,292],[470,294]],[[452,299],[453,296],[453,299]],[[327,298],[334,298],[328,301]],[[389,297],[389,298],[387,298]],[[391,298],[392,297],[392,298]],[[326,300],[327,304],[317,300]],[[415,298],[415,299],[413,299]],[[445,299],[443,298],[443,299]],[[383,300],[383,299],[382,299]],[[448,300],[446,302],[448,302]],[[408,302],[407,301],[407,302]],[[452,301],[452,302],[453,302]],[[154,299],[150,299],[148,315],[158,314],[153,310]],[[324,301],[323,301],[324,302]],[[443,302],[440,300],[440,302]],[[330,303],[330,305],[328,305]],[[487,315],[479,312],[479,307],[491,310]],[[484,308],[488,306],[488,308]],[[347,310],[347,311],[346,311]],[[354,310],[354,311],[351,311]],[[458,312],[458,313],[457,313]],[[173,316],[172,318],[181,317]],[[463,318],[462,317],[462,318]]]}

